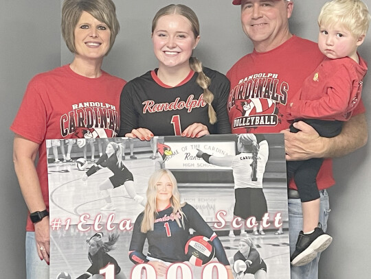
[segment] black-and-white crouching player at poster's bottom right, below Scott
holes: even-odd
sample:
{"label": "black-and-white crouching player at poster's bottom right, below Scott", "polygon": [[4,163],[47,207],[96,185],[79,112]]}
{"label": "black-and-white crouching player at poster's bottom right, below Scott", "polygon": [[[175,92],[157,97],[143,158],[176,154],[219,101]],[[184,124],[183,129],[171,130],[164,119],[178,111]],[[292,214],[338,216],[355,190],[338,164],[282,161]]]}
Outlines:
{"label": "black-and-white crouching player at poster's bottom right, below Scott", "polygon": [[238,252],[230,259],[231,265],[233,265],[236,260],[243,260],[247,267],[245,271],[238,272],[234,270],[238,279],[249,278],[246,274],[254,274],[255,279],[267,278],[267,265],[260,257],[258,250],[256,250],[256,246],[249,237],[240,239],[240,243],[238,243]]}

